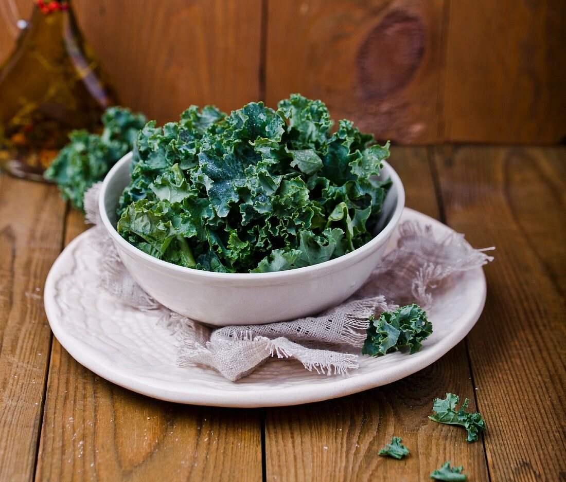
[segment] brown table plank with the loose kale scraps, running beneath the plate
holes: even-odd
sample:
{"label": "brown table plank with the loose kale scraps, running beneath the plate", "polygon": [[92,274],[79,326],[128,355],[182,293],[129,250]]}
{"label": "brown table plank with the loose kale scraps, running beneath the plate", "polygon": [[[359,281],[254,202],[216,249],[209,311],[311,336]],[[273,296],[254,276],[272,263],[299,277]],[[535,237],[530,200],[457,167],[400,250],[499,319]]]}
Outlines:
{"label": "brown table plank with the loose kale scraps, running beneath the plate", "polygon": [[[404,181],[407,205],[440,218],[429,154],[426,147],[396,147],[390,161]],[[475,406],[464,342],[430,367],[385,387],[267,409],[267,480],[427,480],[447,460],[463,465],[473,480],[488,480],[483,442],[468,444],[465,431],[427,418],[433,399],[447,392],[469,397]],[[411,451],[402,461],[378,456],[393,436],[402,437]]]}

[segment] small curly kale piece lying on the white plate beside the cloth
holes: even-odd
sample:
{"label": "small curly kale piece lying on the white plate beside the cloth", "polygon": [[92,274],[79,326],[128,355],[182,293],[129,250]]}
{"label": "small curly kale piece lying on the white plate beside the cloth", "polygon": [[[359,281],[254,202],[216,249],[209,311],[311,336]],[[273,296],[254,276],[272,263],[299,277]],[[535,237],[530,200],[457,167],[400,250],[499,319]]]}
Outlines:
{"label": "small curly kale piece lying on the white plate beside the cloth", "polygon": [[362,354],[378,357],[405,346],[413,354],[421,349],[421,341],[431,333],[432,323],[428,321],[426,311],[417,305],[386,311],[378,319],[370,318]]}

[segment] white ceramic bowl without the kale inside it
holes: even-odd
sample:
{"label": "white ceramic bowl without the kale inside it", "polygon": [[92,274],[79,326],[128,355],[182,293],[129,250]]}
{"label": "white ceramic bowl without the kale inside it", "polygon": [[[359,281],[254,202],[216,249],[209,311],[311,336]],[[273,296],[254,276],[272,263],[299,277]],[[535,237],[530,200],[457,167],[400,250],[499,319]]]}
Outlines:
{"label": "white ceramic bowl without the kale inside it", "polygon": [[153,258],[116,231],[118,198],[130,182],[132,154],[106,175],[98,206],[102,223],[124,266],[139,285],[162,305],[211,325],[260,324],[316,314],[337,305],[370,276],[397,227],[405,206],[401,179],[388,163],[381,177],[391,177],[378,234],[367,244],[324,263],[273,273],[215,273],[185,268]]}

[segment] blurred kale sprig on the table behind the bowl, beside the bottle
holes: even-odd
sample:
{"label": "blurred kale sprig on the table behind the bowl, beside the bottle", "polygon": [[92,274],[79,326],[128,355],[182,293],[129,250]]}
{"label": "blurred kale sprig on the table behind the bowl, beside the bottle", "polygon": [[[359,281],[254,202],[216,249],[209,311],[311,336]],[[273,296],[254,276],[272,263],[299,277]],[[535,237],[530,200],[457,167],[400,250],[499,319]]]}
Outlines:
{"label": "blurred kale sprig on the table behind the bowl, beside the bottle", "polygon": [[102,133],[72,131],[69,134],[71,142],[61,149],[45,171],[45,179],[55,181],[63,198],[84,210],[85,191],[104,179],[117,160],[132,149],[145,122],[144,115],[132,114],[128,108],[106,109],[102,115]]}

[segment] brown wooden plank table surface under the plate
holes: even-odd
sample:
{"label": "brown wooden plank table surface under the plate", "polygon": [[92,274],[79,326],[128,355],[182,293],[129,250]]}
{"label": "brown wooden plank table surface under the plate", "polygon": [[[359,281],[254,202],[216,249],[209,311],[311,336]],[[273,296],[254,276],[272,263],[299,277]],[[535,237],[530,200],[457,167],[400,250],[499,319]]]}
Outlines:
{"label": "brown wooden plank table surface under the plate", "polygon": [[[470,335],[406,379],[294,407],[220,409],[108,383],[52,336],[42,292],[85,228],[54,186],[0,176],[0,480],[566,480],[566,148],[394,147],[410,207],[495,245]],[[434,322],[434,320],[433,320]],[[432,399],[472,399],[475,444],[431,422]],[[411,455],[378,457],[393,435]]]}

